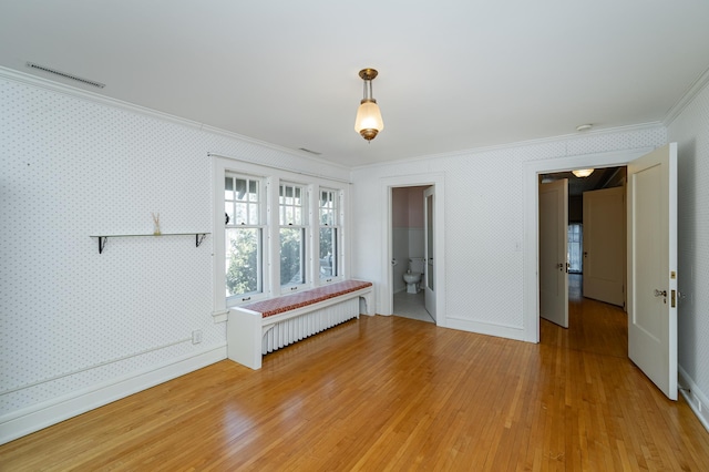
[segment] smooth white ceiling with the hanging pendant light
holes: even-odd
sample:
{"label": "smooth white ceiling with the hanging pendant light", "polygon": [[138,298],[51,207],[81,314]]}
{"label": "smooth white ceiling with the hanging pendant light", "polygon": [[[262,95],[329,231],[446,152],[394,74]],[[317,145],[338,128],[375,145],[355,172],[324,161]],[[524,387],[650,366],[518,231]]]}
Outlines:
{"label": "smooth white ceiling with the hanging pendant light", "polygon": [[357,166],[659,122],[709,69],[708,20],[706,0],[0,0],[0,65]]}

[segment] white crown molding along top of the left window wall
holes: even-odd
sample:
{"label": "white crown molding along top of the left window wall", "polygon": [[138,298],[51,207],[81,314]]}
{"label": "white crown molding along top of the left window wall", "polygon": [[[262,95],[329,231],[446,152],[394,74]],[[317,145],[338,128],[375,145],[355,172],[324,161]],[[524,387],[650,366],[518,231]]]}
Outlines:
{"label": "white crown molding along top of the left window wall", "polygon": [[204,123],[199,123],[196,121],[192,121],[192,120],[187,120],[181,116],[176,116],[176,115],[172,115],[169,113],[163,113],[160,112],[157,110],[153,110],[153,109],[148,109],[146,106],[141,106],[141,105],[136,105],[135,103],[130,103],[130,102],[124,102],[122,100],[117,100],[117,99],[112,99],[110,96],[105,96],[105,95],[101,95],[99,93],[95,92],[91,92],[88,90],[83,90],[83,89],[79,89],[76,86],[72,86],[69,84],[64,84],[64,83],[60,83],[60,82],[54,82],[52,80],[49,79],[44,79],[38,75],[33,75],[33,74],[29,74],[25,72],[21,72],[14,69],[9,69],[6,66],[0,65],[0,78],[2,79],[7,79],[13,82],[18,82],[18,83],[22,83],[25,85],[31,85],[38,89],[44,89],[44,90],[49,90],[51,92],[55,92],[55,93],[61,93],[63,95],[69,95],[72,98],[76,98],[76,99],[81,99],[81,100],[85,100],[89,102],[93,102],[93,103],[97,103],[101,105],[105,105],[105,106],[111,106],[111,107],[115,107],[115,109],[121,109],[124,111],[129,111],[132,113],[137,113],[144,116],[148,116],[152,119],[156,119],[156,120],[161,120],[164,122],[169,122],[169,123],[174,123],[174,124],[178,124],[182,126],[187,126],[187,127],[192,127],[194,130],[198,130],[198,131],[204,131],[206,133],[210,133],[210,134],[216,134],[219,136],[224,136],[224,137],[228,137],[232,140],[237,140],[237,141],[243,141],[245,143],[248,144],[253,144],[256,146],[260,146],[260,147],[267,147],[269,150],[279,152],[279,153],[284,153],[284,154],[288,154],[288,155],[292,155],[292,156],[298,156],[305,160],[308,160],[310,162],[317,163],[317,164],[325,164],[325,165],[329,165],[331,167],[335,168],[339,168],[339,170],[343,170],[343,171],[350,171],[351,168],[349,166],[339,164],[339,163],[332,163],[330,161],[327,161],[325,158],[321,157],[316,157],[309,153],[306,153],[304,151],[297,151],[297,150],[291,150],[289,147],[282,147],[279,146],[277,144],[271,144],[271,143],[267,143],[265,141],[259,141],[253,137],[248,137],[248,136],[244,136],[242,134],[238,133],[234,133],[224,129],[219,129],[219,127],[215,127],[215,126],[210,126]]}

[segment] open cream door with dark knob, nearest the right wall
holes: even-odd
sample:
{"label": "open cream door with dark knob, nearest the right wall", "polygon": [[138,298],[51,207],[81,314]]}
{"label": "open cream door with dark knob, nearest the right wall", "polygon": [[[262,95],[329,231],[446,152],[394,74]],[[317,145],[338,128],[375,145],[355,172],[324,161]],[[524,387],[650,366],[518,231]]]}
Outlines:
{"label": "open cream door with dark knob, nearest the right wall", "polygon": [[677,400],[677,143],[628,164],[628,356]]}

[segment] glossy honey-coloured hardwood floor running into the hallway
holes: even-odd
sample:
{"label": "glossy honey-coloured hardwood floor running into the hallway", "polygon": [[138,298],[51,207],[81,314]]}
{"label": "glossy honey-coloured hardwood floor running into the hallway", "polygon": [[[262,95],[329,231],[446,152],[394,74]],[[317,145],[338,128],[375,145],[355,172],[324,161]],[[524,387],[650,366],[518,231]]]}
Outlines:
{"label": "glossy honey-coloured hardwood floor running into the hallway", "polygon": [[531,345],[399,317],[228,360],[0,447],[0,470],[709,470],[709,433],[572,298]]}

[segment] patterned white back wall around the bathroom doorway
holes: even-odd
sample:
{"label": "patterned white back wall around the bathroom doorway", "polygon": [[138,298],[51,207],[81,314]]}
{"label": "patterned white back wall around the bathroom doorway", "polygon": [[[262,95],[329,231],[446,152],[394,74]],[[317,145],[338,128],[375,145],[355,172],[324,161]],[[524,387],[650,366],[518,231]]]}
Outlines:
{"label": "patterned white back wall around the bathroom doorway", "polygon": [[[666,140],[665,127],[658,125],[357,168],[352,172],[354,271],[386,290],[381,280],[386,230],[379,227],[386,211],[379,202],[382,179],[443,173],[445,293],[438,296],[445,297],[446,317],[439,319],[445,319],[448,327],[524,339],[525,163],[637,150]],[[379,293],[377,299],[386,296]]]}

